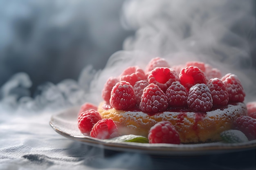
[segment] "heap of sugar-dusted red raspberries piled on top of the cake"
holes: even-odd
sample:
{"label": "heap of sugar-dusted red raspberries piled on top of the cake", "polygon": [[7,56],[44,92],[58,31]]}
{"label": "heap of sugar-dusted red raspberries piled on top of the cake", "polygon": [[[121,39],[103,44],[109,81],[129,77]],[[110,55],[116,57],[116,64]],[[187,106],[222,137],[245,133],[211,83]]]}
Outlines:
{"label": "heap of sugar-dusted red raspberries piled on top of the cake", "polygon": [[217,68],[204,62],[191,61],[171,67],[166,60],[156,57],[145,71],[131,66],[119,77],[110,77],[102,96],[117,110],[140,108],[146,113],[157,113],[184,107],[207,112],[212,106],[243,102],[245,91],[236,75],[228,73],[221,77]]}

